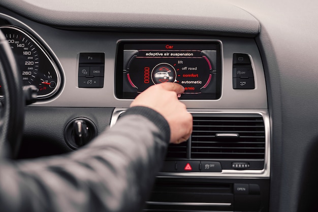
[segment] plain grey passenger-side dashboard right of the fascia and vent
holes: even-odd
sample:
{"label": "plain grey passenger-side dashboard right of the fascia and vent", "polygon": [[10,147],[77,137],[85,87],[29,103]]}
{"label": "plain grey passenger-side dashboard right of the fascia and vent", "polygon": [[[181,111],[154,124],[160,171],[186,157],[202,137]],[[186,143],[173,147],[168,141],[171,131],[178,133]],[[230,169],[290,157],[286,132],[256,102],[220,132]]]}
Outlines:
{"label": "plain grey passenger-side dashboard right of the fascia and vent", "polygon": [[312,162],[318,137],[318,2],[227,2],[261,24],[257,40],[273,125],[270,211],[317,211],[318,172]]}

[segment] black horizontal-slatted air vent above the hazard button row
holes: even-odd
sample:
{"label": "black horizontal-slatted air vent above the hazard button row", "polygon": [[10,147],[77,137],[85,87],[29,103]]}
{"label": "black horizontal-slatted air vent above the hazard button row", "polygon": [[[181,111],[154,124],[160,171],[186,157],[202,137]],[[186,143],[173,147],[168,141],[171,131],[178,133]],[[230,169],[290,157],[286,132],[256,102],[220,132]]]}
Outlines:
{"label": "black horizontal-slatted air vent above the hazard button row", "polygon": [[193,114],[193,125],[191,142],[170,145],[168,160],[265,158],[265,127],[261,115]]}

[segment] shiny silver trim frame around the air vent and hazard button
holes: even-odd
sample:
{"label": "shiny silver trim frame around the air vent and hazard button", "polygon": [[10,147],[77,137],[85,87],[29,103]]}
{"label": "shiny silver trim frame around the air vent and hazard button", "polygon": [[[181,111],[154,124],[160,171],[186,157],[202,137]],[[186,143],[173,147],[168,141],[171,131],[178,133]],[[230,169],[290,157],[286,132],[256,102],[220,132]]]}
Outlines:
{"label": "shiny silver trim frame around the air vent and hazard button", "polygon": [[[122,114],[127,109],[116,108],[113,112],[111,119],[111,127],[116,123],[120,114]],[[270,154],[271,154],[271,135],[270,135],[270,119],[267,110],[218,110],[218,111],[208,111],[208,110],[190,110],[189,113],[192,114],[259,114],[263,117],[265,126],[265,160],[264,168],[262,170],[222,170],[222,172],[160,172],[157,178],[240,178],[240,179],[264,179],[270,177]]]}

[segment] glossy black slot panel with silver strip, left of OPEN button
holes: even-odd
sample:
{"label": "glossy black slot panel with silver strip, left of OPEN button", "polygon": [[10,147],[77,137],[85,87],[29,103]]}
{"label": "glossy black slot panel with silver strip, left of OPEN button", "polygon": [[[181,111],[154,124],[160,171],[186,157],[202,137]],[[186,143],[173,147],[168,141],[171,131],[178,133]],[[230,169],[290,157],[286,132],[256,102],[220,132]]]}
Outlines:
{"label": "glossy black slot panel with silver strip, left of OPEN button", "polygon": [[233,211],[232,184],[157,180],[144,211],[198,212]]}

